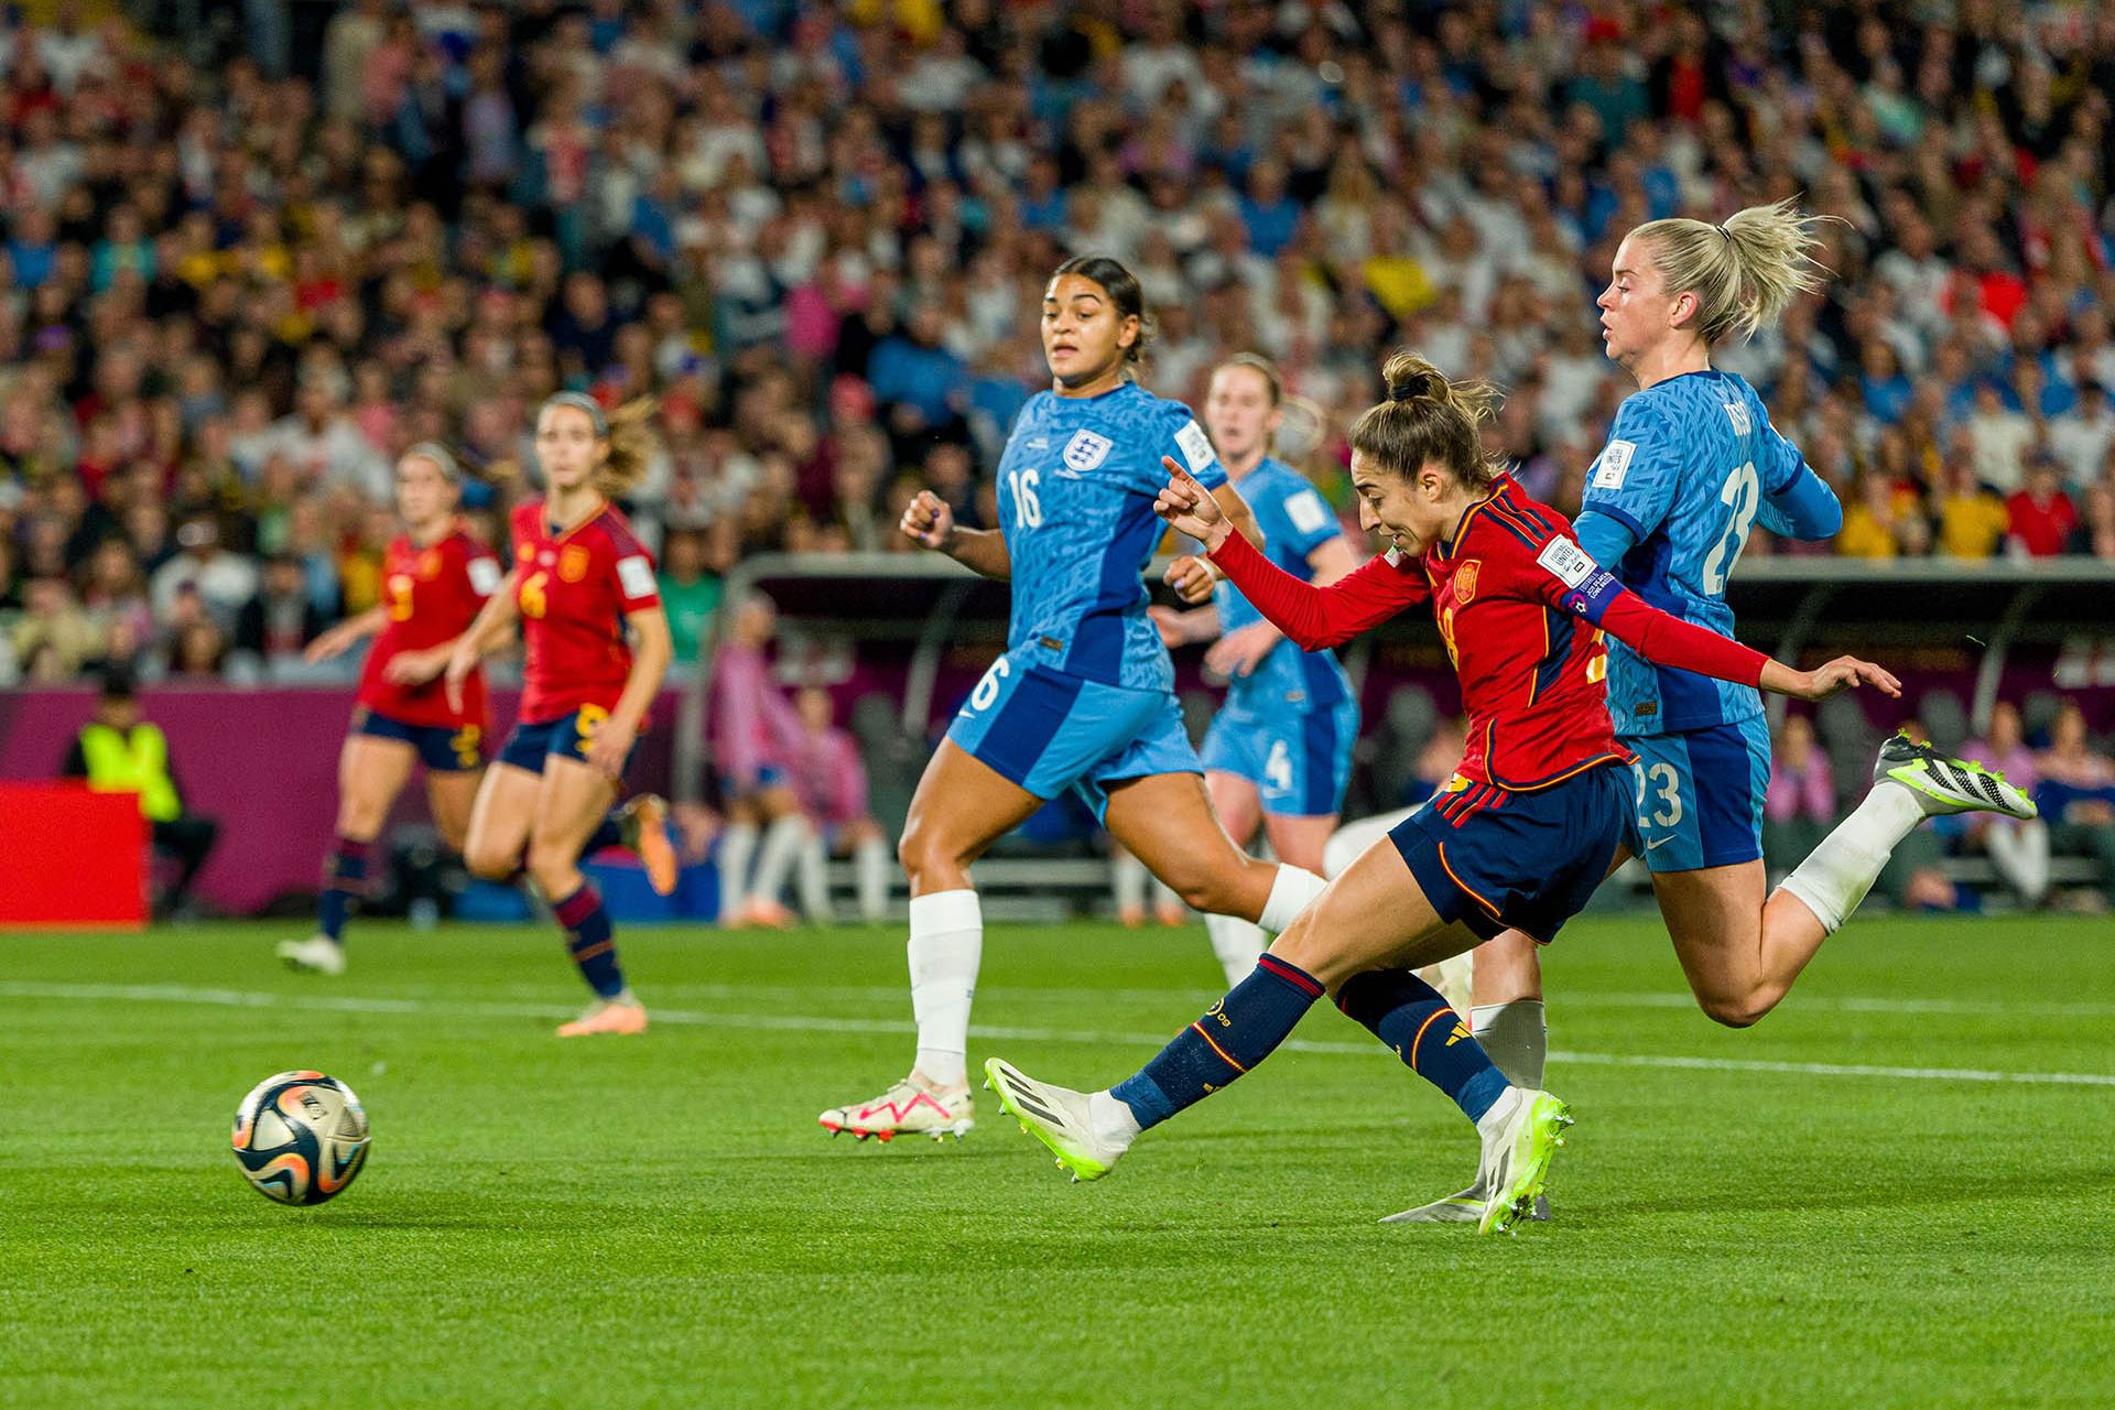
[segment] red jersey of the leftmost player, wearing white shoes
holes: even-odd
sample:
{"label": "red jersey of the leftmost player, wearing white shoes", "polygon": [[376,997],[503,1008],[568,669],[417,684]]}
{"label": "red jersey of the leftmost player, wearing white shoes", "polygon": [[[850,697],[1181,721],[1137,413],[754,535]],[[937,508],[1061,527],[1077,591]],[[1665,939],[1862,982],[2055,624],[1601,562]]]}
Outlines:
{"label": "red jersey of the leftmost player, wearing white shoes", "polygon": [[398,535],[383,554],[383,611],[389,624],[374,638],[360,670],[360,704],[406,725],[484,727],[484,672],[463,681],[463,708],[448,708],[448,691],[436,674],[425,685],[393,685],[383,666],[398,651],[425,651],[455,641],[499,586],[493,550],[470,537],[461,524],[431,548]]}

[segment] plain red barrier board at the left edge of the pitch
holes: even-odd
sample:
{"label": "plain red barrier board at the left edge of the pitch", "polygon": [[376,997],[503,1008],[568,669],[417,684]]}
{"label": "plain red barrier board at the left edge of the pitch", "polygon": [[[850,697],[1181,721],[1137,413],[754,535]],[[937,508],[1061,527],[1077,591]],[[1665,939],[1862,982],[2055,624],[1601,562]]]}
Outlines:
{"label": "plain red barrier board at the left edge of the pitch", "polygon": [[0,782],[0,926],[137,930],[146,865],[137,795]]}

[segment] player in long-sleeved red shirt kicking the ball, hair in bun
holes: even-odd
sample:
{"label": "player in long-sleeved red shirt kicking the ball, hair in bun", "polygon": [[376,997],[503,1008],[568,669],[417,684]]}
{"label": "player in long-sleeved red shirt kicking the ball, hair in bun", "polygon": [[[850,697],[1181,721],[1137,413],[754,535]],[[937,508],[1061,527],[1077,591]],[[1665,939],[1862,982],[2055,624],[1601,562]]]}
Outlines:
{"label": "player in long-sleeved red shirt kicking the ball, hair in bun", "polygon": [[1533,1205],[1563,1101],[1512,1087],[1440,994],[1413,970],[1506,928],[1538,941],[1601,884],[1631,805],[1629,753],[1607,715],[1607,632],[1641,657],[1821,700],[1899,683],[1853,657],[1804,672],[1648,607],[1595,567],[1571,526],[1531,501],[1483,450],[1489,393],[1453,387],[1398,353],[1387,402],[1351,427],[1360,520],[1394,550],[1326,588],[1271,567],[1229,535],[1212,497],[1170,463],[1161,516],[1301,647],[1335,647],[1430,605],[1461,679],[1468,748],[1442,797],[1371,846],[1271,943],[1256,970],[1136,1076],[1079,1093],[992,1059],[1000,1103],[1074,1177],[1093,1180],[1146,1127],[1201,1101],[1271,1055],[1307,1008],[1337,1006],[1445,1091],[1483,1137],[1481,1228]]}

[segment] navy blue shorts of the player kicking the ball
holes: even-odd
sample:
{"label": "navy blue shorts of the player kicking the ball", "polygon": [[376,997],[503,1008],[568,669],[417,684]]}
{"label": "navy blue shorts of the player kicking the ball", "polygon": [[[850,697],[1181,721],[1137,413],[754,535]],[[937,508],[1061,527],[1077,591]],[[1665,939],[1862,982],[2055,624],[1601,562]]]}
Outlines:
{"label": "navy blue shorts of the player kicking the ball", "polygon": [[1548,945],[1586,909],[1629,820],[1631,772],[1603,763],[1533,793],[1449,778],[1387,837],[1442,920]]}

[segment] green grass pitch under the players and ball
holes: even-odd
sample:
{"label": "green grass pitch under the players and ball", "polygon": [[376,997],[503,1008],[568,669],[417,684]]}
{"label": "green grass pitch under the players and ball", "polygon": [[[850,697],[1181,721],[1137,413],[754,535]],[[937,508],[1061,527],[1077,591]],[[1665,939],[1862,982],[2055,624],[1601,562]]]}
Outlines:
{"label": "green grass pitch under the players and ball", "polygon": [[[967,1142],[831,1142],[909,1055],[897,930],[632,930],[662,1015],[560,1044],[556,936],[0,936],[0,1404],[2056,1406],[2115,1397],[2115,1087],[1612,1059],[2115,1072],[2104,920],[1872,920],[1760,1029],[1658,922],[1548,956],[1559,1222],[1383,1228],[1459,1188],[1459,1114],[1322,1008],[1070,1186],[979,1093]],[[1093,1087],[1216,994],[1197,930],[994,926],[973,1063]],[[1085,1029],[1102,1040],[1053,1040]],[[1593,1059],[1563,1053],[1597,1055]],[[321,1068],[374,1148],[250,1192],[237,1099]]]}

